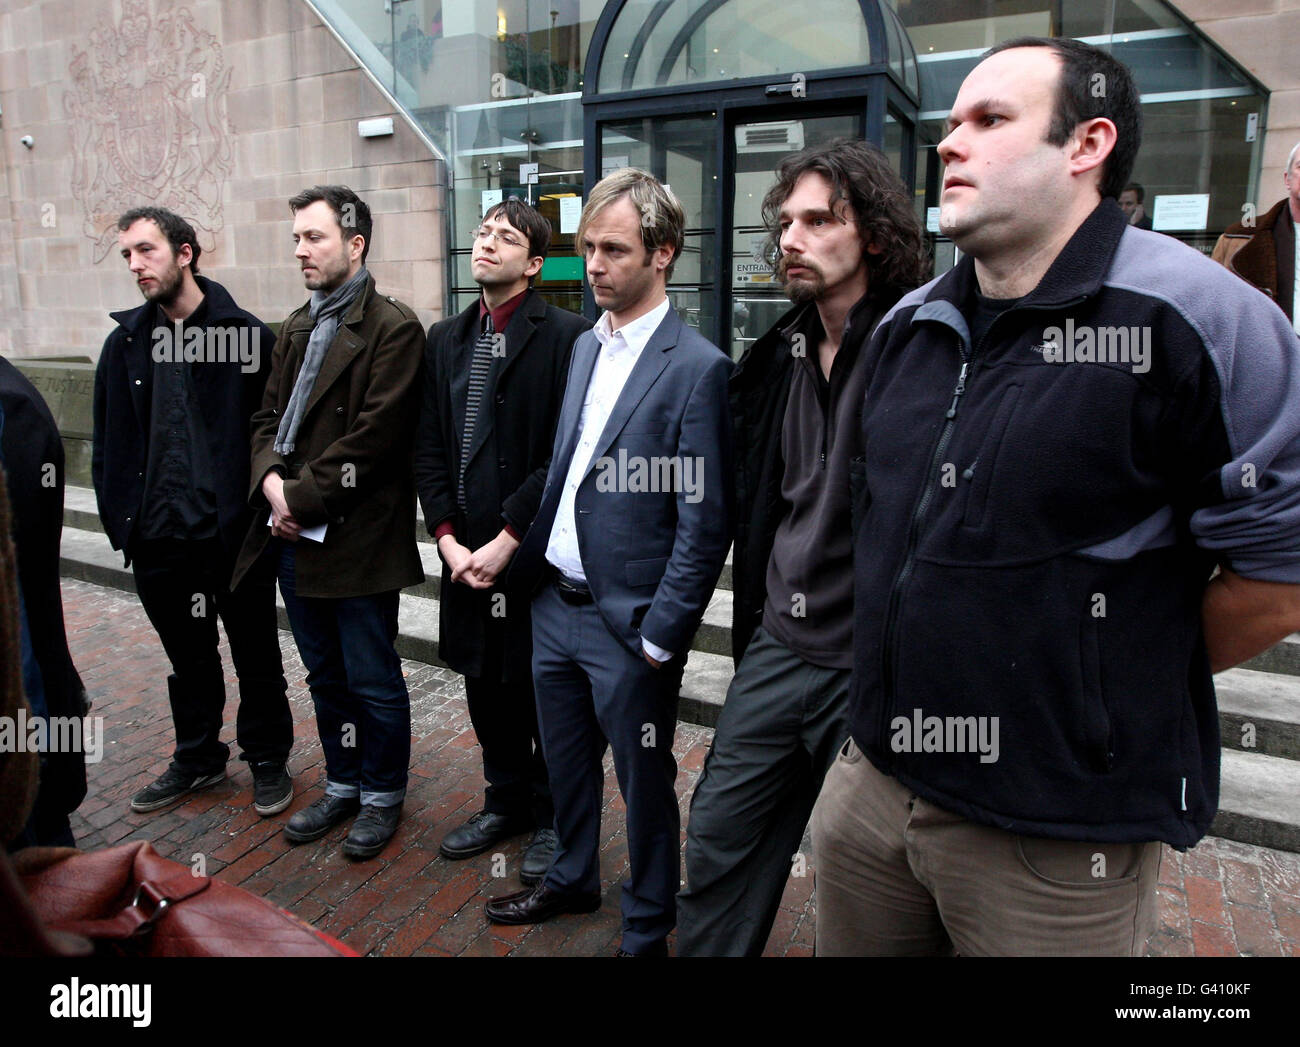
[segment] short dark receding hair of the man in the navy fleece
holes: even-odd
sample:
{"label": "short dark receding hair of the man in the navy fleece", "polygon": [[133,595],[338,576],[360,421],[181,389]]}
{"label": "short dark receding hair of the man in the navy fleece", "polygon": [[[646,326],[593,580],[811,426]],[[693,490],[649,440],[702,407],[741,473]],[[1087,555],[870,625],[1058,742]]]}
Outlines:
{"label": "short dark receding hair of the man in the navy fleece", "polygon": [[1101,163],[1098,189],[1102,198],[1118,199],[1141,148],[1141,96],[1128,66],[1101,48],[1067,36],[1017,36],[991,47],[980,61],[1017,47],[1045,47],[1061,56],[1061,83],[1048,144],[1063,146],[1075,127],[1098,116],[1115,125],[1115,147]]}

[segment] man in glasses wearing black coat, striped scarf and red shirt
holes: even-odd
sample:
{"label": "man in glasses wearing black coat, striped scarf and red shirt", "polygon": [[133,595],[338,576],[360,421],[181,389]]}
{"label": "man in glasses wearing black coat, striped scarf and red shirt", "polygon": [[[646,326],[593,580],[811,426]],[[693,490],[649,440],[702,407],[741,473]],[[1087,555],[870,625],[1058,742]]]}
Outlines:
{"label": "man in glasses wearing black coat, striped scarf and red shirt", "polygon": [[416,436],[416,489],[443,558],[438,652],[465,678],[484,753],[484,809],[442,842],[443,857],[481,855],[534,830],[520,878],[536,883],[555,847],[555,809],[537,730],[532,615],[502,583],[537,512],[569,355],[592,326],[532,289],[550,221],[510,198],[474,232],[482,294],[429,329]]}

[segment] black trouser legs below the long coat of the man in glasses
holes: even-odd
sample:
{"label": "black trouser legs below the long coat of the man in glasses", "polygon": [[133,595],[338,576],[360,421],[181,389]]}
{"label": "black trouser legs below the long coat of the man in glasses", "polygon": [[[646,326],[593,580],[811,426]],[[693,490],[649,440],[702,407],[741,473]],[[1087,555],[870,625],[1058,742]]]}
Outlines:
{"label": "black trouser legs below the long coat of the man in glasses", "polygon": [[465,676],[465,704],[484,750],[484,778],[488,779],[484,809],[550,828],[555,822],[555,806],[537,728],[532,678],[500,683]]}

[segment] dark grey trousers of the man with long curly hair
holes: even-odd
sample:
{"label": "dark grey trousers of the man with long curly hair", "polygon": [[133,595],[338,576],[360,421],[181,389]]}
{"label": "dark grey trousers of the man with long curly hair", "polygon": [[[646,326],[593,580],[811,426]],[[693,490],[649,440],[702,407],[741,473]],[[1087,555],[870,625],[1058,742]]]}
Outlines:
{"label": "dark grey trousers of the man with long curly hair", "polygon": [[849,672],[754,633],[690,799],[679,956],[762,956],[822,779],[849,736]]}

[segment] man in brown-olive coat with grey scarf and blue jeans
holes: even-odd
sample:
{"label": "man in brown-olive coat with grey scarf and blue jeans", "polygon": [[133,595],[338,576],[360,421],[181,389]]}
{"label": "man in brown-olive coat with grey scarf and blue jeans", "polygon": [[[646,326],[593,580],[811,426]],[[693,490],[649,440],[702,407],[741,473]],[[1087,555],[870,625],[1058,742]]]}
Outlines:
{"label": "man in brown-olive coat with grey scarf and blue jeans", "polygon": [[376,290],[370,209],[355,192],[315,186],[289,205],[313,294],[285,320],[252,416],[250,498],[261,511],[235,580],[276,561],[325,750],[325,796],[285,836],[315,840],[359,813],[343,853],[370,858],[396,831],[411,758],[394,641],[399,590],[424,580],[411,459],[424,330]]}

